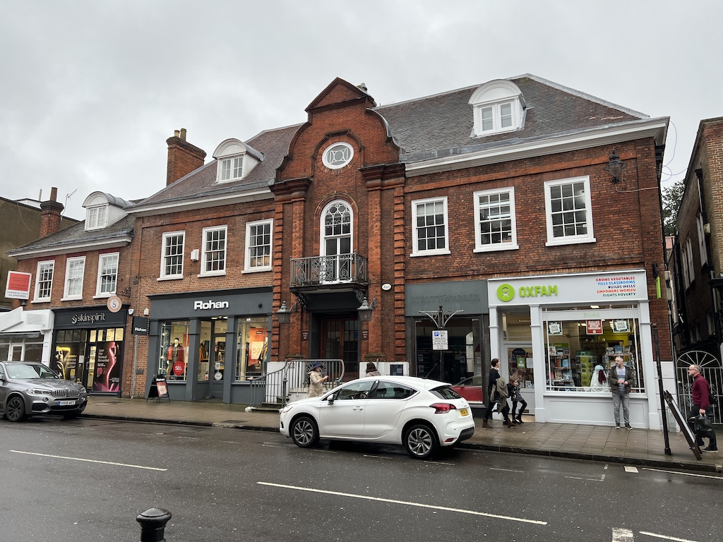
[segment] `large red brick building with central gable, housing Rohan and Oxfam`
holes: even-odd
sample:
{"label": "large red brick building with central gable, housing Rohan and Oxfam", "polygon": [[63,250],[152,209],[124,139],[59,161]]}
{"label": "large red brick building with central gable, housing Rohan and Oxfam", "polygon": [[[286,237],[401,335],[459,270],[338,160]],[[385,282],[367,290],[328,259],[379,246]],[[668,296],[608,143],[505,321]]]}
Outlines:
{"label": "large red brick building with central gable, housing Rohan and Oxfam", "polygon": [[592,377],[620,353],[633,425],[659,427],[666,130],[528,74],[385,106],[336,79],[304,124],[205,164],[179,133],[167,186],[126,209],[150,311],[133,385],[160,372],[171,397],[243,403],[286,358],[454,383],[497,357],[538,421],[612,423]]}

